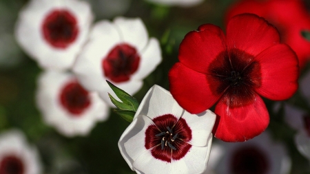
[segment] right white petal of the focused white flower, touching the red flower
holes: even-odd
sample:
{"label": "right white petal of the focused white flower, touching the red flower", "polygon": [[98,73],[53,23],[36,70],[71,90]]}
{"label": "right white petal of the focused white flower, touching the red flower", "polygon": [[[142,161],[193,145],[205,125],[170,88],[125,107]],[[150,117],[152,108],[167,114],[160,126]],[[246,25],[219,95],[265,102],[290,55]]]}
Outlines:
{"label": "right white petal of the focused white flower, touching the red flower", "polygon": [[192,140],[188,143],[193,146],[207,146],[209,135],[214,127],[216,114],[210,110],[193,116],[185,111],[182,116],[188,126],[192,129]]}

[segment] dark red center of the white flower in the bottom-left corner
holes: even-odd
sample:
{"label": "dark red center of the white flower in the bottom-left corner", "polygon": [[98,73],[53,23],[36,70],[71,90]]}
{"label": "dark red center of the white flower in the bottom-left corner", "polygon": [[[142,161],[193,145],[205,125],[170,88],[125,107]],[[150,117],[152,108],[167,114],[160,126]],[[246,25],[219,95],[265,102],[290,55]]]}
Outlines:
{"label": "dark red center of the white flower in the bottom-left corner", "polygon": [[23,174],[25,166],[19,157],[8,155],[0,161],[0,174]]}

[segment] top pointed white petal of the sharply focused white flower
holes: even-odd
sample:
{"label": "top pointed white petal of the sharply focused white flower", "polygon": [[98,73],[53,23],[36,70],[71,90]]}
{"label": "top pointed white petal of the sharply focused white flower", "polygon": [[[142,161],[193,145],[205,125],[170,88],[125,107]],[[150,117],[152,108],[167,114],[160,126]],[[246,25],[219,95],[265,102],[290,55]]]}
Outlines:
{"label": "top pointed white petal of the sharply focused white flower", "polygon": [[176,118],[180,118],[184,111],[169,91],[158,85],[154,85],[149,89],[140,105],[143,107],[139,107],[136,111],[135,118],[138,115],[143,115],[153,119],[169,113],[176,116]]}

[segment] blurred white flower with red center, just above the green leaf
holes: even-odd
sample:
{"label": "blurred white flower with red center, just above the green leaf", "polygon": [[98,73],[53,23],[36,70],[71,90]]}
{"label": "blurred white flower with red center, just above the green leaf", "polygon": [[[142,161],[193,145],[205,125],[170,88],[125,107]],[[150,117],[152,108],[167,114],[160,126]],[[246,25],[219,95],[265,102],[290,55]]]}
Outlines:
{"label": "blurred white flower with red center, just above the green leaf", "polygon": [[113,23],[96,23],[76,59],[73,72],[81,85],[90,91],[99,91],[101,98],[114,106],[107,92],[117,97],[105,80],[133,95],[161,59],[159,43],[157,39],[148,39],[141,19],[118,17]]}

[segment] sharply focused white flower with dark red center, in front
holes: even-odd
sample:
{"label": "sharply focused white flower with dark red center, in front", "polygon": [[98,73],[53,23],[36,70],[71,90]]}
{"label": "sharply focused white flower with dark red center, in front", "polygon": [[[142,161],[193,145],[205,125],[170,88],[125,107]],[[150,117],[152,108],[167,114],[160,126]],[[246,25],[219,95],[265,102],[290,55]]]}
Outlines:
{"label": "sharply focused white flower with dark red center, in front", "polygon": [[182,109],[169,91],[154,85],[143,98],[118,148],[136,173],[202,173],[216,115]]}

